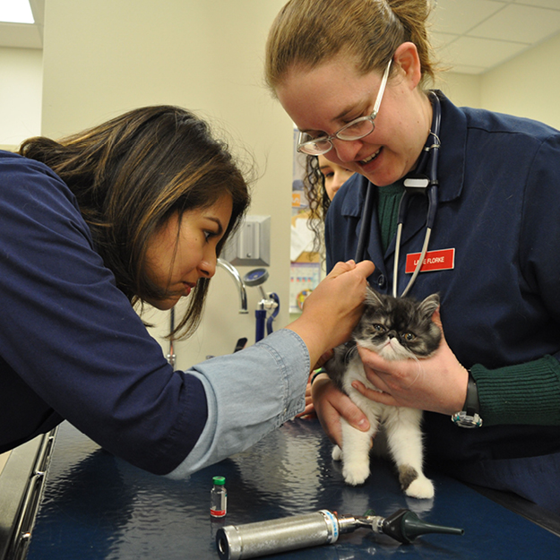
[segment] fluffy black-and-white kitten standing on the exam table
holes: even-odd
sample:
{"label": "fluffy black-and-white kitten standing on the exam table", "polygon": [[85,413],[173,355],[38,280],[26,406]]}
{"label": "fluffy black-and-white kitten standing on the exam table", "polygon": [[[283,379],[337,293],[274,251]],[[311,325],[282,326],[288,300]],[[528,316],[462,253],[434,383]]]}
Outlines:
{"label": "fluffy black-and-white kitten standing on the exam table", "polygon": [[[397,465],[405,494],[416,498],[434,496],[434,485],[422,471],[422,411],[370,401],[351,383],[358,380],[378,391],[366,378],[357,345],[374,350],[388,360],[418,361],[418,358],[433,354],[442,336],[432,322],[438,306],[437,294],[417,302],[411,297],[386,296],[368,289],[364,313],[351,339],[335,348],[333,357],[324,366],[332,381],[364,411],[371,425],[369,431],[360,432],[341,419],[342,450],[335,445],[332,458],[335,461],[342,459],[342,474],[350,485],[362,484],[369,477],[372,438],[382,426],[387,451]],[[375,451],[377,447],[381,447],[378,441],[374,445]]]}

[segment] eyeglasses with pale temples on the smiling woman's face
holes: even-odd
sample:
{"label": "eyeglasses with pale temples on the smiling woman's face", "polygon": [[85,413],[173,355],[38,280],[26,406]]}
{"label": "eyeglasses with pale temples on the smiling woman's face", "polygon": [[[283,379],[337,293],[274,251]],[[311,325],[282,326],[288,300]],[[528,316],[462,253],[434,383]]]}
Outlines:
{"label": "eyeglasses with pale temples on the smiling woman's face", "polygon": [[372,134],[375,130],[375,117],[379,112],[379,106],[381,105],[381,99],[383,99],[383,91],[385,90],[385,85],[387,84],[387,79],[389,77],[389,69],[391,68],[392,59],[385,68],[383,73],[383,78],[381,80],[381,86],[377,92],[377,99],[375,99],[374,110],[371,115],[368,116],[358,116],[353,121],[350,121],[348,125],[342,126],[339,131],[332,134],[331,136],[319,136],[314,138],[311,134],[299,133],[297,138],[297,151],[301,153],[306,153],[310,156],[320,156],[327,151],[332,149],[332,139],[338,138],[339,140],[353,141],[364,138],[367,134]]}

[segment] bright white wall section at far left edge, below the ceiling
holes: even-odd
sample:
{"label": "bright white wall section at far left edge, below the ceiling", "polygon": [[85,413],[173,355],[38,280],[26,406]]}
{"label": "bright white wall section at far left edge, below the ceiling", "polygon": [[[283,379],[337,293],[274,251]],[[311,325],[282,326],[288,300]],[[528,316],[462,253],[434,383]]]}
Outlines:
{"label": "bright white wall section at far left edge, below the ceiling", "polygon": [[0,146],[40,134],[43,53],[0,47]]}

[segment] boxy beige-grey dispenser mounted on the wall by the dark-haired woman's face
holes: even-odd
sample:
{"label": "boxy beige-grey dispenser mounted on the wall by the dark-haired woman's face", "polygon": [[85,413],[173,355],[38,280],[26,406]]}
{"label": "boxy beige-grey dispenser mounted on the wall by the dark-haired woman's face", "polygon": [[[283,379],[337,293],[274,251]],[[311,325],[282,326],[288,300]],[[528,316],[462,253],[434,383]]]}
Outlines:
{"label": "boxy beige-grey dispenser mounted on the wall by the dark-haired woman's face", "polygon": [[271,217],[246,216],[221,255],[235,266],[270,266]]}

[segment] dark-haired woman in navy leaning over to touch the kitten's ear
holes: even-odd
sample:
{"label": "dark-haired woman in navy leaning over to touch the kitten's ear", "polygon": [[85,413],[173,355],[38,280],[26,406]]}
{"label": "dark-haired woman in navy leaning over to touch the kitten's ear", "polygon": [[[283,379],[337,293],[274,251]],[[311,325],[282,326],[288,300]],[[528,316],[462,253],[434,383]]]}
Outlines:
{"label": "dark-haired woman in navy leaning over to touch the kitten's ear", "polygon": [[181,108],[0,152],[0,452],[67,419],[126,461],[181,477],[304,408],[310,366],[358,320],[371,263],[340,263],[289,327],[187,372],[134,312],[188,297],[177,331],[192,333],[248,203],[227,146]]}

